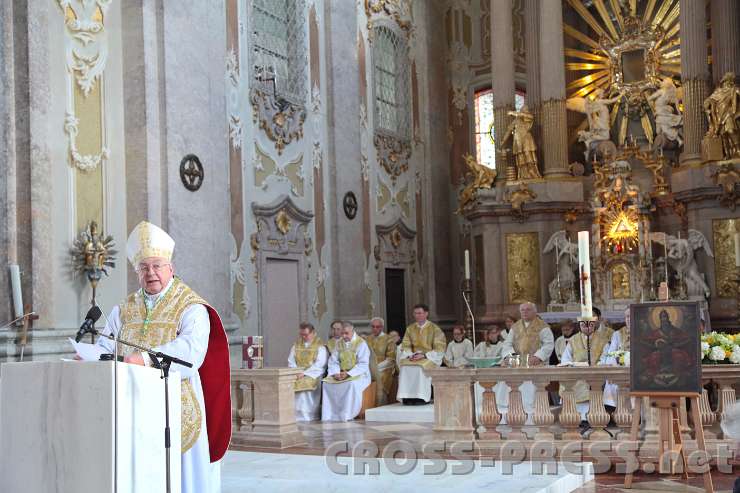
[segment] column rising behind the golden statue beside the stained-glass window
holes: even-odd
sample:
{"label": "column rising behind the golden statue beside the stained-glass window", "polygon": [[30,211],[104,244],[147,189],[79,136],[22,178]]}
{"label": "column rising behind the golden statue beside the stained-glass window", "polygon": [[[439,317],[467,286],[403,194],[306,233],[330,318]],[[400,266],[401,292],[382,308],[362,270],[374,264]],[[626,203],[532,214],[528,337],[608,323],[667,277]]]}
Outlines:
{"label": "column rising behind the golden statue beside the stained-glass window", "polygon": [[[497,146],[499,136],[506,131],[511,121],[508,111],[514,109],[514,33],[511,0],[491,0],[491,87],[493,88],[493,125],[496,129]],[[506,174],[507,181],[516,180],[513,160],[496,156],[499,174]]]}

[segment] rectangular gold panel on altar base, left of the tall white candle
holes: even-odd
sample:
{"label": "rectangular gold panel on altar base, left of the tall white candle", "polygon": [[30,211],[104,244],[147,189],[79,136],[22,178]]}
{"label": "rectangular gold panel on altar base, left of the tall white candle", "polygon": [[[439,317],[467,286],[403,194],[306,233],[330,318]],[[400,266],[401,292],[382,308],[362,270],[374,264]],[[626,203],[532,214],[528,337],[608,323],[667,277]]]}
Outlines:
{"label": "rectangular gold panel on altar base, left of the tall white candle", "polygon": [[539,234],[506,234],[506,277],[509,303],[540,302]]}

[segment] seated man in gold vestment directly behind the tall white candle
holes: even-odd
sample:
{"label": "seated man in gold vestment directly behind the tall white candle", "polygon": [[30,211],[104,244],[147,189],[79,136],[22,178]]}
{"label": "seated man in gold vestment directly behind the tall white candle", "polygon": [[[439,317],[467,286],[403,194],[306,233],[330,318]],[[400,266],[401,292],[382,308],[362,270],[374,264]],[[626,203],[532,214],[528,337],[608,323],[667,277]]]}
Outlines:
{"label": "seated man in gold vestment directly behind the tall white candle", "polygon": [[[570,338],[563,352],[562,363],[586,363],[588,366],[596,366],[608,346],[613,330],[601,319],[598,308],[593,309],[596,320],[593,322],[579,322],[580,332]],[[561,384],[560,392],[565,390]],[[583,380],[578,380],[573,386],[575,393],[576,410],[581,415],[581,427],[588,425],[587,414],[589,410],[589,386]]]}

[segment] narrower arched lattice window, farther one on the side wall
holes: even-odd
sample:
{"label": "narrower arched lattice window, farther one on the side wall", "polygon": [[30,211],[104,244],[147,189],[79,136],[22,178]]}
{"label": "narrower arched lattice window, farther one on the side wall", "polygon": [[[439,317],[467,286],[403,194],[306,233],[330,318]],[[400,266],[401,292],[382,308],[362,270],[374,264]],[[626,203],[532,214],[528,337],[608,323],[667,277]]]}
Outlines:
{"label": "narrower arched lattice window, farther one on the side wall", "polygon": [[391,28],[373,29],[375,129],[402,140],[410,137],[408,46]]}

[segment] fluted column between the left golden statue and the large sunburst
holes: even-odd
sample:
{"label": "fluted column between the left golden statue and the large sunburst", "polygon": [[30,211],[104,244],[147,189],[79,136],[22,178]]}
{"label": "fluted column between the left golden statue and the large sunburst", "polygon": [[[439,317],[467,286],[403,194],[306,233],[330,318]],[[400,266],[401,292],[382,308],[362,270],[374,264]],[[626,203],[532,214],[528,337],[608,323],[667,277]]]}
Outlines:
{"label": "fluted column between the left golden statue and the large sunburst", "polygon": [[544,176],[568,175],[568,123],[565,112],[563,6],[560,0],[541,0],[540,97]]}

